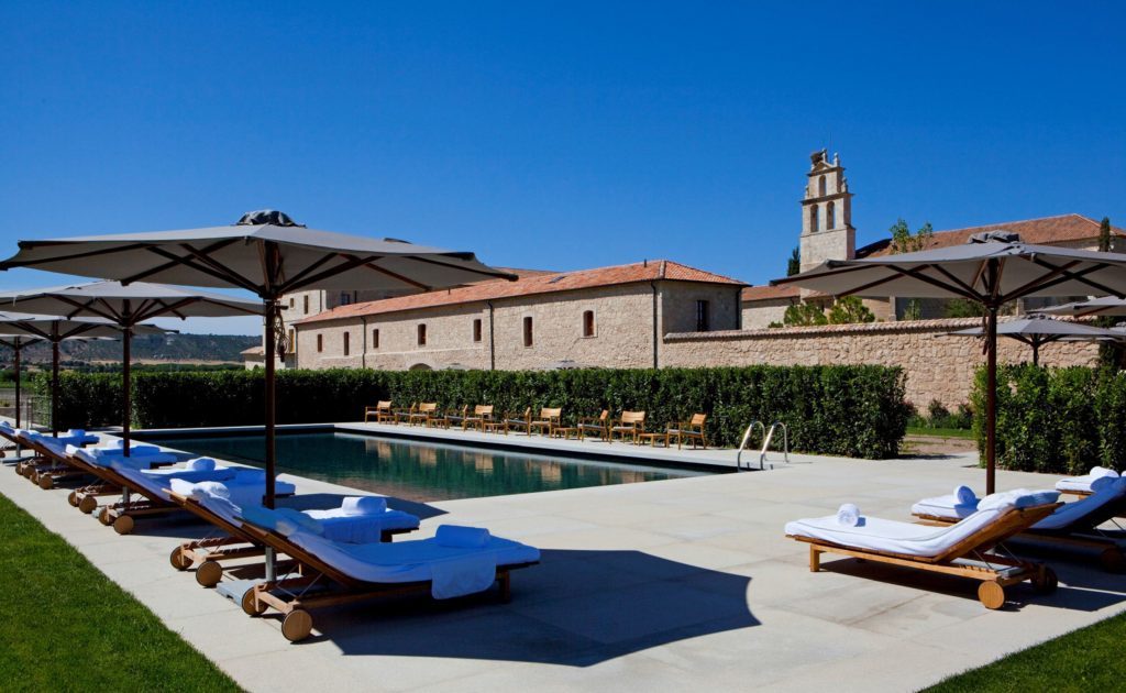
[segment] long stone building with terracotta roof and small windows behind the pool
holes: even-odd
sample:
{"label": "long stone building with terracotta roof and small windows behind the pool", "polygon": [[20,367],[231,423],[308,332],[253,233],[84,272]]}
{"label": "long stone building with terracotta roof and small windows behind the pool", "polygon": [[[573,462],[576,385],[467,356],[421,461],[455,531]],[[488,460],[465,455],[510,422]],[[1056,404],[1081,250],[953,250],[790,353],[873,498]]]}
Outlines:
{"label": "long stone building with terracotta roof and small windows behind the pool", "polygon": [[668,332],[739,329],[743,286],[647,260],[338,305],[291,329],[302,368],[660,367]]}

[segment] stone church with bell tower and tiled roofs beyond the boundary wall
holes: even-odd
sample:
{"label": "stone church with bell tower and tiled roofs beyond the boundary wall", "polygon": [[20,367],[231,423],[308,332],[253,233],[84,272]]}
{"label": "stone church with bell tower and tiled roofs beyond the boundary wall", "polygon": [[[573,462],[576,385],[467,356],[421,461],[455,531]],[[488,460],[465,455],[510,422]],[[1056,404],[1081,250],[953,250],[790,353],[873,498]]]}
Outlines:
{"label": "stone church with bell tower and tiled roofs beyond the boundary wall", "polygon": [[[856,247],[856,229],[852,226],[852,193],[840,157],[832,161],[825,150],[811,156],[812,163],[806,172],[805,193],[802,199],[802,233],[799,237],[802,270],[816,267],[830,259],[852,259],[876,257],[892,252],[891,239]],[[1026,221],[985,224],[966,229],[936,231],[924,249],[942,248],[966,242],[974,233],[1004,229],[1019,233],[1029,243],[1063,246],[1097,250],[1099,247],[1099,222],[1081,214],[1063,214]],[[1126,251],[1126,232],[1112,226],[1111,250]],[[1082,296],[1075,296],[1080,299]],[[743,327],[762,329],[781,322],[786,309],[803,301],[831,302],[831,296],[815,295],[796,286],[749,286],[743,290]],[[890,300],[865,299],[864,303],[877,320],[902,319],[910,296]],[[1062,302],[1055,301],[1055,302]],[[1044,301],[1025,301],[1018,310],[1043,308]],[[937,319],[945,317],[946,302],[924,300],[919,302],[920,317]]]}

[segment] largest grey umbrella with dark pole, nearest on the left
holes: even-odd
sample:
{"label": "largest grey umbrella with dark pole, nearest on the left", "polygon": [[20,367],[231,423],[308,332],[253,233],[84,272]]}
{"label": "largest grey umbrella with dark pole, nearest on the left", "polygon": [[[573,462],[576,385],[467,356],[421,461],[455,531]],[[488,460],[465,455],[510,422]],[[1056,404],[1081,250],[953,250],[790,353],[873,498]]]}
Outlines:
{"label": "largest grey umbrella with dark pole, nearest on the left", "polygon": [[[489,277],[516,279],[472,252],[370,239],[296,224],[276,211],[250,212],[235,224],[119,236],[20,241],[0,269],[33,267],[65,274],[244,288],[266,317],[266,497],[274,507],[275,352],[285,347],[278,300],[301,290],[446,288]],[[269,561],[268,561],[269,562]]]}

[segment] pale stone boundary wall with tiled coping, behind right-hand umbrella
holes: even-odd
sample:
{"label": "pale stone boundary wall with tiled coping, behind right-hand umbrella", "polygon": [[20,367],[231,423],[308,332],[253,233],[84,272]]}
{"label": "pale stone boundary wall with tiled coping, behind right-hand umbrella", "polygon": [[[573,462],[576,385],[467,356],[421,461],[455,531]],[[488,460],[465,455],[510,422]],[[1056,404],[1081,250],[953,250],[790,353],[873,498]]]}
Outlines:
{"label": "pale stone boundary wall with tiled coping, behind right-hand umbrella", "polygon": [[[667,335],[661,365],[902,366],[908,400],[920,409],[936,399],[954,408],[969,400],[974,371],[985,358],[980,340],[945,335],[978,325],[980,319],[971,318]],[[1040,348],[1040,363],[1052,366],[1092,365],[1097,357],[1098,346],[1089,343],[1057,343]],[[998,340],[998,358],[1001,363],[1031,361],[1031,349],[1002,337]]]}

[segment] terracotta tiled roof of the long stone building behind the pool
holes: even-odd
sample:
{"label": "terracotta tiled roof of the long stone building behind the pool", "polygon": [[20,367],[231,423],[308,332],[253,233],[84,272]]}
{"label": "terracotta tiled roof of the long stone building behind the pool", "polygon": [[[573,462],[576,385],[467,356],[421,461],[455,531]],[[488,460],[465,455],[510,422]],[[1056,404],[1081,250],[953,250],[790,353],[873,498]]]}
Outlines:
{"label": "terracotta tiled roof of the long stone building behind the pool", "polygon": [[384,299],[382,301],[368,301],[365,303],[340,305],[330,311],[298,320],[296,321],[296,325],[307,325],[310,322],[321,322],[324,320],[339,320],[341,318],[358,318],[360,316],[393,313],[420,308],[456,305],[458,303],[473,303],[477,301],[490,301],[493,299],[511,299],[561,291],[575,291],[579,288],[593,288],[597,286],[653,282],[659,279],[745,286],[743,282],[738,279],[712,274],[711,272],[704,272],[703,269],[696,269],[695,267],[681,265],[680,263],[673,263],[671,260],[649,260],[646,263],[634,263],[632,265],[618,265],[615,267],[598,267],[595,269],[580,269],[578,272],[563,272],[543,275],[537,274],[530,276],[526,275],[521,276],[516,282],[506,282],[502,279],[479,282],[470,286],[450,288],[448,291],[431,291],[406,296],[396,296],[394,299]]}

